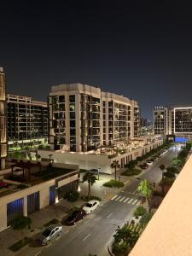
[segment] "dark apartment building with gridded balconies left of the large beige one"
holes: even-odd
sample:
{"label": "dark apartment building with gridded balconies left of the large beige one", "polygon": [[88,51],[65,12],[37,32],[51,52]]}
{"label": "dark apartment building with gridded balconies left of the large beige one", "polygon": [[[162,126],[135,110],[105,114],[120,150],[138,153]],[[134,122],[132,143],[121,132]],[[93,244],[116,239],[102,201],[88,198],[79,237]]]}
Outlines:
{"label": "dark apartment building with gridded balconies left of the large beige one", "polygon": [[30,96],[7,95],[9,144],[29,143],[48,137],[47,102]]}

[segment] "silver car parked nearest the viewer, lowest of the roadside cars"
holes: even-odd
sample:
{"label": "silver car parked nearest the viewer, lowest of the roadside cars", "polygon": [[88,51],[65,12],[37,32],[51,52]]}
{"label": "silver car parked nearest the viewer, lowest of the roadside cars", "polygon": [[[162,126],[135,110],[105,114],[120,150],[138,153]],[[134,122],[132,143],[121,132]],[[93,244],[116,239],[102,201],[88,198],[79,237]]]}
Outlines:
{"label": "silver car parked nearest the viewer, lowest of the roadside cars", "polygon": [[50,241],[54,240],[55,237],[61,236],[62,226],[61,225],[52,225],[49,226],[44,232],[39,236],[38,241],[41,245],[46,245]]}

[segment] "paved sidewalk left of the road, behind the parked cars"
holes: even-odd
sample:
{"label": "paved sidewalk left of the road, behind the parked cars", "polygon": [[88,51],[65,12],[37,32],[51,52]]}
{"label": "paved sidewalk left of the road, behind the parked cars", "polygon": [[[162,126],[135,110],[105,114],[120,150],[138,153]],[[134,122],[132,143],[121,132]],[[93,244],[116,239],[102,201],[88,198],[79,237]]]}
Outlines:
{"label": "paved sidewalk left of the road, behind the parked cars", "polygon": [[[119,178],[120,172],[122,171],[123,170],[121,169],[117,172],[117,178]],[[84,173],[81,173],[81,180],[83,175]],[[100,179],[96,180],[96,183],[94,183],[91,187],[91,195],[101,197],[102,202],[108,201],[113,197],[113,195],[116,195],[120,191],[120,189],[106,188],[102,186],[103,183],[106,183],[110,179],[113,179],[113,176],[113,174],[100,174]],[[120,180],[123,181],[124,183],[127,183],[129,177],[120,176]],[[80,183],[80,189],[80,196],[87,195],[88,183]],[[82,201],[81,199],[74,203],[70,203],[66,200],[61,200],[55,205],[44,207],[40,211],[32,213],[30,215],[30,218],[32,218],[31,230],[13,230],[12,228],[4,230],[3,232],[0,233],[0,255],[36,255],[40,250],[42,250],[42,247],[26,246],[21,248],[20,251],[16,253],[10,251],[9,247],[12,246],[16,241],[20,241],[20,239],[22,239],[25,236],[35,238],[35,236],[37,236],[38,233],[44,230],[44,224],[47,224],[53,218],[57,218],[58,220],[61,221],[62,218],[65,218],[67,216],[67,211],[69,209],[71,209],[72,207],[82,207],[84,203],[85,202]]]}

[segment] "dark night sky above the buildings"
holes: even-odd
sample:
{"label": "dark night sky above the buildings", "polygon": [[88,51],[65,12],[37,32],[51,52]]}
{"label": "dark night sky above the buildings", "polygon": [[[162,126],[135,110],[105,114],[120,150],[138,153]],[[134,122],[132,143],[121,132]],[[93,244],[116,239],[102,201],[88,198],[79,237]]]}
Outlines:
{"label": "dark night sky above the buildings", "polygon": [[192,105],[192,3],[2,1],[0,66],[11,93],[46,100],[80,82],[154,105]]}

